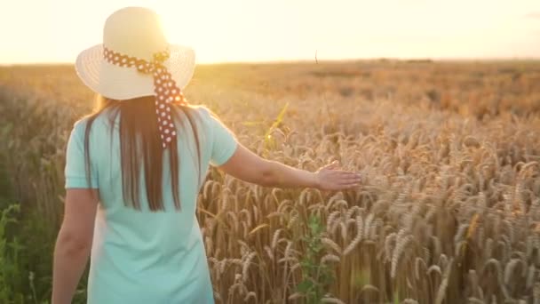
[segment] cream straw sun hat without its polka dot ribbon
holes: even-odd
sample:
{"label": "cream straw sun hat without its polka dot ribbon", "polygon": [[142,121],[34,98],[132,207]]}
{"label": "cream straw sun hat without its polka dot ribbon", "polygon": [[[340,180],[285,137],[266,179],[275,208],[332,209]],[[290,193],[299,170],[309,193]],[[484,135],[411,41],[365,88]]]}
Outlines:
{"label": "cream straw sun hat without its polka dot ribbon", "polygon": [[150,63],[154,62],[155,54],[168,52],[168,58],[161,63],[180,90],[191,80],[195,70],[195,52],[187,46],[169,44],[159,16],[147,8],[127,7],[110,15],[103,29],[103,44],[81,52],[75,61],[75,70],[93,92],[110,99],[155,95],[151,71],[141,73],[136,66],[112,63],[105,57],[105,49],[115,56],[117,53],[130,57],[125,60]]}

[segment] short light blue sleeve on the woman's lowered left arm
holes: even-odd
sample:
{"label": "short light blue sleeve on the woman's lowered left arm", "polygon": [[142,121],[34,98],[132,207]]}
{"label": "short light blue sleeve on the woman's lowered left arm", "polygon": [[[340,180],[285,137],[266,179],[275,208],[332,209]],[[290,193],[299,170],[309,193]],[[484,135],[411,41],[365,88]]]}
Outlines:
{"label": "short light blue sleeve on the woman's lowered left arm", "polygon": [[93,165],[91,165],[90,185],[86,178],[83,138],[84,126],[78,122],[71,131],[69,140],[67,140],[66,168],[64,171],[66,188],[98,188],[98,175]]}

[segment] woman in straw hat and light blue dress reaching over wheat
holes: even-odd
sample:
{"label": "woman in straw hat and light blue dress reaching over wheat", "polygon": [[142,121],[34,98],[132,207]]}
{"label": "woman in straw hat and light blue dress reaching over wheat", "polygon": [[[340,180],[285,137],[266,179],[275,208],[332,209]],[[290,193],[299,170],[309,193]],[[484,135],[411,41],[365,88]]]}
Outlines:
{"label": "woman in straw hat and light blue dress reaching over wheat", "polygon": [[242,147],[208,109],[187,105],[194,68],[194,52],[168,44],[144,8],[113,13],[103,44],[78,56],[77,74],[101,102],[67,144],[53,304],[72,300],[90,255],[89,303],[213,303],[195,218],[209,164],[267,187],[359,184],[336,164],[306,172]]}

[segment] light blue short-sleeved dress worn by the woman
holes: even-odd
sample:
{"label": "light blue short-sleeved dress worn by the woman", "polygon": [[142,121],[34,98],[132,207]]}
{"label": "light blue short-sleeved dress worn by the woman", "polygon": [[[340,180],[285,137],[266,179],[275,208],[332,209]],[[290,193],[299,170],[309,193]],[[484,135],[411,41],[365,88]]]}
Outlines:
{"label": "light blue short-sleeved dress worn by the woman", "polygon": [[[208,109],[194,108],[194,113],[202,154],[202,180],[197,180],[195,140],[187,119],[182,119],[177,122],[181,202],[178,212],[174,209],[168,166],[163,170],[164,212],[149,212],[144,186],[140,187],[142,211],[124,205],[119,116],[111,124],[103,113],[92,124],[91,188],[99,188],[99,209],[91,250],[88,303],[214,302],[206,252],[195,217],[196,197],[209,165],[224,164],[234,154],[237,143],[232,132]],[[85,125],[85,119],[75,123],[67,143],[66,188],[89,188],[84,171]],[[164,162],[169,164],[169,157]]]}

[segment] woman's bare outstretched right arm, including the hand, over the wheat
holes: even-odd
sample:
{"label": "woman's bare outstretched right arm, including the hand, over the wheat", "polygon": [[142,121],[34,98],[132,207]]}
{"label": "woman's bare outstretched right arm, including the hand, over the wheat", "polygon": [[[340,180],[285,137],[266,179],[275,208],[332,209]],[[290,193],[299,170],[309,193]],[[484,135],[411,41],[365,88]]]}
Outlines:
{"label": "woman's bare outstretched right arm, including the hand, over the wheat", "polygon": [[237,179],[266,187],[344,190],[357,187],[361,182],[359,174],[338,170],[337,163],[322,167],[317,172],[308,172],[266,160],[240,143],[233,156],[219,169]]}

